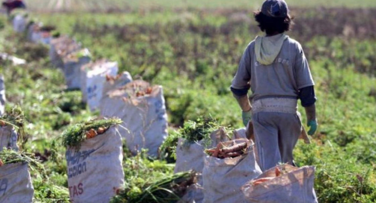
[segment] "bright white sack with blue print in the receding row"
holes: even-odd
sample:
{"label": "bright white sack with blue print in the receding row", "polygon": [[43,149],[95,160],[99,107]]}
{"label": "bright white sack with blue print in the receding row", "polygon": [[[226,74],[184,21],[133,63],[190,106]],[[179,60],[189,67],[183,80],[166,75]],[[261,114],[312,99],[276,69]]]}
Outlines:
{"label": "bright white sack with blue print in the receding row", "polygon": [[90,110],[96,110],[100,107],[106,75],[116,76],[118,74],[118,63],[111,61],[89,63],[83,66],[81,74],[83,102],[87,103]]}

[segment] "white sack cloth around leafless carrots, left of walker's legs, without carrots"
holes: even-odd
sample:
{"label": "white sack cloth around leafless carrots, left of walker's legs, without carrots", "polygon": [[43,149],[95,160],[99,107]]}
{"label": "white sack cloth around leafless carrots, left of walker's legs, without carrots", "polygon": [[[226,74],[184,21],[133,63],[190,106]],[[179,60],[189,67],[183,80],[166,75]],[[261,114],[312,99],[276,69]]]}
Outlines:
{"label": "white sack cloth around leafless carrots, left of walker's legs, without carrots", "polygon": [[205,156],[204,170],[204,203],[248,203],[241,187],[251,179],[261,174],[256,163],[253,142],[247,139],[234,140],[249,142],[246,154],[235,157],[218,159]]}

